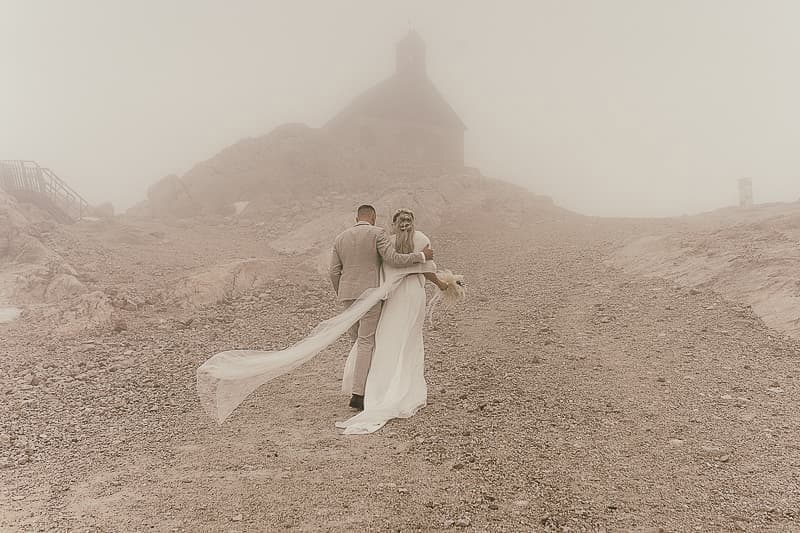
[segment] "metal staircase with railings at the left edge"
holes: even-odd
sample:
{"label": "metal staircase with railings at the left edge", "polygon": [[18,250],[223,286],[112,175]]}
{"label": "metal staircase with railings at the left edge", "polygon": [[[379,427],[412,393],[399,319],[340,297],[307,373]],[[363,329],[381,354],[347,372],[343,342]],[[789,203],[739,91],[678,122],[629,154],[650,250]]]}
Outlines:
{"label": "metal staircase with railings at the left edge", "polygon": [[0,160],[0,189],[46,210],[60,222],[77,222],[89,214],[89,203],[80,194],[35,161]]}

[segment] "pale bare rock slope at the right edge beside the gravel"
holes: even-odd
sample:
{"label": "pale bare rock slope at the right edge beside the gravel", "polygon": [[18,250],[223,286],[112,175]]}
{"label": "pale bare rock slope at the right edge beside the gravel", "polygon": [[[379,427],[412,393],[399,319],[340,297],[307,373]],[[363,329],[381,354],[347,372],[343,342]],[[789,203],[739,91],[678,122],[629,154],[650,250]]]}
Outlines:
{"label": "pale bare rock slope at the right edge beside the gravel", "polygon": [[636,275],[747,304],[770,327],[800,336],[800,203],[670,221],[630,240],[615,259]]}

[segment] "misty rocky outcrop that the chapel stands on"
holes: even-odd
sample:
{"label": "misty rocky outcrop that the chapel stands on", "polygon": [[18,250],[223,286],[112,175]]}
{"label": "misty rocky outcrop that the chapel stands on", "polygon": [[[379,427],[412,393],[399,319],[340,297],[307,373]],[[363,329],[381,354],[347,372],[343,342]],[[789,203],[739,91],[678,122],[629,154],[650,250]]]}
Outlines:
{"label": "misty rocky outcrop that the chapel stands on", "polygon": [[[406,201],[416,202],[416,207],[428,214],[441,212],[448,202],[457,203],[465,190],[486,182],[471,168],[413,162],[378,165],[348,152],[326,130],[286,124],[268,135],[222,150],[181,177],[163,178],[150,187],[147,200],[130,213],[272,219],[302,217],[304,211],[317,209],[349,212],[353,201],[383,201],[387,206]],[[503,182],[495,181],[493,186],[504,197],[522,192],[516,188],[509,194],[513,188]],[[543,197],[537,200],[543,206],[551,204]]]}

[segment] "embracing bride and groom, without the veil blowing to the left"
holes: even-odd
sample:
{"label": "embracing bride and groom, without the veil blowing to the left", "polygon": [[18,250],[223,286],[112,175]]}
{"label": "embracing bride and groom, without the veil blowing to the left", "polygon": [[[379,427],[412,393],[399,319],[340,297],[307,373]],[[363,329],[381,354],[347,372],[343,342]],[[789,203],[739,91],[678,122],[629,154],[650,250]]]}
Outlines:
{"label": "embracing bride and groom, without the veil blowing to the left", "polygon": [[331,282],[346,308],[381,281],[406,274],[385,301],[350,328],[354,345],[342,390],[352,392],[350,407],[363,412],[336,424],[345,433],[371,433],[387,420],[410,417],[425,406],[425,281],[447,289],[432,264],[427,271],[414,268],[433,259],[433,250],[430,239],[416,230],[411,210],[394,213],[391,237],[375,220],[375,208],[359,207],[356,225],[339,234],[331,254]]}

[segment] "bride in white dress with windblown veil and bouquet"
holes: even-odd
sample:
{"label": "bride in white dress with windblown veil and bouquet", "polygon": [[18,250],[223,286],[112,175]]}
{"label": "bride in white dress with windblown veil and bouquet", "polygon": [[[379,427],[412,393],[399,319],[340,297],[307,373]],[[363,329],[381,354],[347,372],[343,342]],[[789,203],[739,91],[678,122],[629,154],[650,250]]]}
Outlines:
{"label": "bride in white dress with windblown veil and bouquet", "polygon": [[[408,209],[395,213],[392,226],[392,245],[400,253],[420,251],[430,243],[425,234],[416,231],[414,214]],[[384,264],[379,287],[365,290],[345,311],[320,323],[307,337],[289,348],[229,350],[208,359],[197,369],[201,405],[222,424],[258,387],[313,358],[383,300],[375,351],[367,375],[364,411],[336,425],[346,434],[372,433],[391,418],[412,416],[427,401],[422,343],[426,279],[442,290],[432,304],[442,299],[454,301],[464,294],[463,277],[449,271],[437,274],[432,261],[399,268]],[[350,390],[352,383],[356,350],[357,344],[345,364],[345,391]]]}

